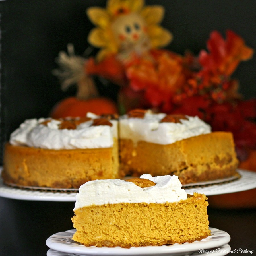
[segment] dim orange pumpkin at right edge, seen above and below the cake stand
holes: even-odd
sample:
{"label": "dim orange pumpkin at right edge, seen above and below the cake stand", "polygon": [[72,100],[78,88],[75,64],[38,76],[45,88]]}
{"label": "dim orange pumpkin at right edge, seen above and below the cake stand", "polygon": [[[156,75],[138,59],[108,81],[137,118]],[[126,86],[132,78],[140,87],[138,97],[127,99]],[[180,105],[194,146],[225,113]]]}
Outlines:
{"label": "dim orange pumpkin at right edge, seen above and below the cake stand", "polygon": [[[256,172],[256,150],[252,150],[249,157],[241,162],[239,168]],[[237,193],[214,195],[208,197],[210,207],[222,209],[255,208],[256,189]]]}

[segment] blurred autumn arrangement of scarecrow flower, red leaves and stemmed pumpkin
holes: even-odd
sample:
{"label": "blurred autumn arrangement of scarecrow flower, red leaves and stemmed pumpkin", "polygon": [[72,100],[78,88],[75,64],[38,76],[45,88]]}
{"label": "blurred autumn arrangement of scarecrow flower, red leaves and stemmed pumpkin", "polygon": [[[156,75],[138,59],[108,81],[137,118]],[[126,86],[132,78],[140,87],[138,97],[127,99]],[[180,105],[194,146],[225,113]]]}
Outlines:
{"label": "blurred autumn arrangement of scarecrow flower, red leaves and stemmed pumpkin", "polygon": [[[239,63],[253,56],[240,36],[228,30],[224,38],[212,31],[206,50],[182,56],[163,49],[172,34],[160,26],[162,6],[108,0],[106,8],[86,11],[95,25],[88,42],[99,51],[88,59],[76,56],[72,45],[60,52],[54,74],[63,89],[76,83],[77,96],[59,102],[52,117],[85,116],[88,111],[123,114],[134,108],[197,115],[213,131],[233,133],[240,160],[256,149],[256,100],[243,100],[232,78]],[[99,96],[95,75],[120,86],[117,103]]]}

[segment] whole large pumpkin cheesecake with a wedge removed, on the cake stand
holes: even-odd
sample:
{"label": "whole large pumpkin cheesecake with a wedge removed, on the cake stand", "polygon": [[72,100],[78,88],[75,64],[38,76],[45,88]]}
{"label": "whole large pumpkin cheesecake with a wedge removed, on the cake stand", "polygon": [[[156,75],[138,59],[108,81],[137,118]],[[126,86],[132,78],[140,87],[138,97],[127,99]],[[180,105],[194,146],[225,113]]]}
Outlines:
{"label": "whole large pumpkin cheesecake with a wedge removed, on the cake stand", "polygon": [[2,177],[18,186],[79,188],[95,179],[177,175],[183,185],[237,175],[232,133],[198,117],[126,115],[29,119],[5,145]]}

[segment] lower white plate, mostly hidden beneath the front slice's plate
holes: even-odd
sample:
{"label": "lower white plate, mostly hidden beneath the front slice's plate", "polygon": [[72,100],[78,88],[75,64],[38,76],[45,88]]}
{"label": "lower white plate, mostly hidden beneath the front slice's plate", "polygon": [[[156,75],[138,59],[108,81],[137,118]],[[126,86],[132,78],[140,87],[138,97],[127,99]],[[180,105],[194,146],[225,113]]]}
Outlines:
{"label": "lower white plate, mostly hidden beneath the front slice's plate", "polygon": [[[189,254],[190,256],[224,256],[227,255],[229,253],[229,251],[231,250],[230,246],[226,243],[222,246],[219,247],[215,247],[215,248],[211,248],[208,250],[205,250],[205,252],[203,251],[195,251],[192,254]],[[158,254],[156,254],[157,256]],[[168,255],[172,255],[172,253],[168,254]],[[177,255],[177,254],[175,254]],[[188,255],[187,253],[182,253],[181,255],[185,256]],[[64,253],[61,251],[55,251],[53,249],[49,249],[46,253],[46,256],[78,256],[77,254],[74,253]]]}

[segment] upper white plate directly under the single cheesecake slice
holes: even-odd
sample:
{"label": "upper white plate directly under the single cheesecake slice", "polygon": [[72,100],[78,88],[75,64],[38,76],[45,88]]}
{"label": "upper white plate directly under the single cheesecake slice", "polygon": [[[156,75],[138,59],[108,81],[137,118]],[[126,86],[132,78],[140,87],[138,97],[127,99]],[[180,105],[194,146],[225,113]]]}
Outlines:
{"label": "upper white plate directly under the single cheesecake slice", "polygon": [[230,235],[216,228],[210,228],[212,234],[207,238],[193,243],[162,245],[162,246],[142,246],[131,247],[129,249],[121,247],[96,247],[84,246],[72,240],[75,229],[59,232],[50,236],[46,240],[46,245],[53,250],[77,255],[185,255],[191,254],[200,249],[210,249],[222,246],[230,241]]}

